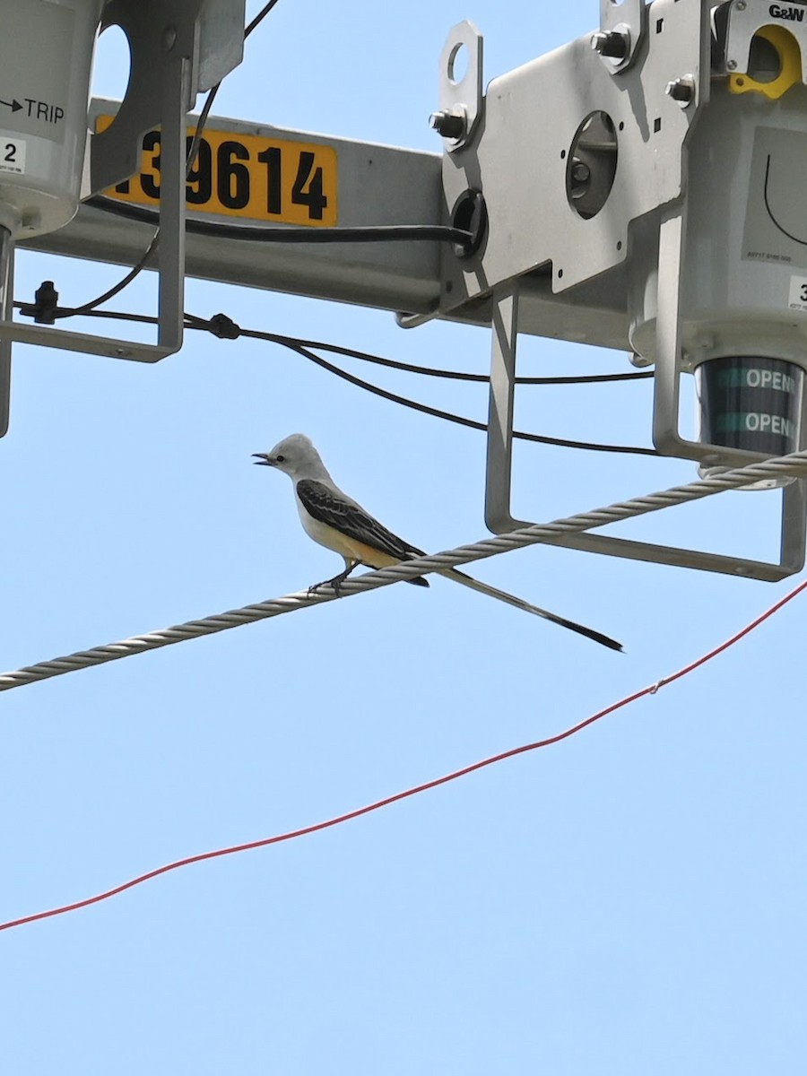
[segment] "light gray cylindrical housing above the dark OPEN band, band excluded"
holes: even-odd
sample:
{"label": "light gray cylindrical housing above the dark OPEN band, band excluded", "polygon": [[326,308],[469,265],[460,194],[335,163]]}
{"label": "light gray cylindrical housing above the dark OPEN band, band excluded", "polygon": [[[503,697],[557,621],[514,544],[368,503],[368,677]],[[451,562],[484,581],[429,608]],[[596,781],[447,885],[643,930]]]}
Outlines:
{"label": "light gray cylindrical housing above the dark OPEN band, band excluded", "polygon": [[[681,366],[767,356],[807,369],[807,87],[780,100],[713,83],[692,132],[681,267]],[[657,230],[639,223],[629,339],[655,358]]]}

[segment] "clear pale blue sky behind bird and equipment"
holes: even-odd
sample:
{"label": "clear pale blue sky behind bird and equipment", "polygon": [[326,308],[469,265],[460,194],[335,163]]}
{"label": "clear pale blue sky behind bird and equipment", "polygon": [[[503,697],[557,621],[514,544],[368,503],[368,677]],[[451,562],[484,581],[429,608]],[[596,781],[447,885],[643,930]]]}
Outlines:
{"label": "clear pale blue sky behind bird and equipment", "polygon": [[[254,14],[260,5],[250,4]],[[594,28],[563,8],[281,0],[214,112],[439,148],[449,28],[486,77]],[[121,90],[104,47],[95,91]],[[114,267],[24,254],[16,294],[77,305]],[[116,308],[151,312],[154,281]],[[195,313],[484,372],[489,335],[189,281]],[[87,326],[97,330],[96,325]],[[125,327],[124,327],[125,328]],[[538,338],[524,373],[627,369]],[[484,419],[478,385],[356,370]],[[521,428],[648,443],[650,390],[525,388]],[[339,568],[288,481],[251,464],[297,430],[429,550],[485,535],[484,437],[252,340],[189,334],[157,366],[15,352],[3,668],[286,594]],[[519,445],[514,507],[551,520],[686,482],[686,462]],[[778,494],[725,494],[622,533],[776,555]],[[480,578],[624,655],[435,580],[6,693],[0,918],[171,860],[308,825],[551,736],[722,641],[765,584],[544,547]],[[190,866],[0,936],[19,1076],[795,1073],[803,997],[803,600],[705,669],[577,737],[335,830]]]}

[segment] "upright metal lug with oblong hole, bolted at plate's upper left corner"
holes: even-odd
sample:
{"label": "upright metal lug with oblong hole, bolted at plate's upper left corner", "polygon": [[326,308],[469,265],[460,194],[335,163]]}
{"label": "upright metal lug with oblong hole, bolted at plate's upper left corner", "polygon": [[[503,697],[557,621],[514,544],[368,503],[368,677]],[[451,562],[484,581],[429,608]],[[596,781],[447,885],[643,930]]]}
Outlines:
{"label": "upright metal lug with oblong hole, bolted at plate's upper left corner", "polygon": [[449,153],[466,145],[482,115],[482,34],[466,19],[449,30],[440,54],[440,110],[433,113],[431,126]]}

